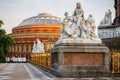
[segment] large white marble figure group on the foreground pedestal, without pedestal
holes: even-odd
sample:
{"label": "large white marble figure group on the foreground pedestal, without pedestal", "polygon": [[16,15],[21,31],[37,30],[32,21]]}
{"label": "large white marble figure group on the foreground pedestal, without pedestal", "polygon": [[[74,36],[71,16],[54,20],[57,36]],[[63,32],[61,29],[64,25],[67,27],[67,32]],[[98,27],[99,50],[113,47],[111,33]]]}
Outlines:
{"label": "large white marble figure group on the foreground pedestal, without pedestal", "polygon": [[76,4],[76,9],[72,16],[65,12],[65,18],[62,21],[61,36],[57,41],[59,43],[101,43],[101,39],[96,34],[97,28],[92,15],[85,20],[84,12],[80,3]]}

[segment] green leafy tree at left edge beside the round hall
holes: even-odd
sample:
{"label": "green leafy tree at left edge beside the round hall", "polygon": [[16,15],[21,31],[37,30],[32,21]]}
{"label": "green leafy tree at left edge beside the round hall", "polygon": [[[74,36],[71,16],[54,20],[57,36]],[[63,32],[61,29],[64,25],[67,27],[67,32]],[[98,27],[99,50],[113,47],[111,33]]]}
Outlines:
{"label": "green leafy tree at left edge beside the round hall", "polygon": [[3,22],[0,20],[0,62],[5,62],[5,54],[12,45],[13,39],[10,35],[6,34],[4,29],[1,29],[2,25]]}

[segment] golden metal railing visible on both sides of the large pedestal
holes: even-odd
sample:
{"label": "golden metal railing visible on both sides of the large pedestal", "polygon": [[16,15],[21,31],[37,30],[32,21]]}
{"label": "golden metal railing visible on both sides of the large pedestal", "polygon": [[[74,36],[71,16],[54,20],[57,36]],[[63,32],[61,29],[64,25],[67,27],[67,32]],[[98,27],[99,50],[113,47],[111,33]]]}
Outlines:
{"label": "golden metal railing visible on both sides of the large pedestal", "polygon": [[[112,74],[120,73],[120,51],[111,51],[109,58]],[[43,68],[50,69],[51,54],[50,53],[31,54],[31,62]]]}

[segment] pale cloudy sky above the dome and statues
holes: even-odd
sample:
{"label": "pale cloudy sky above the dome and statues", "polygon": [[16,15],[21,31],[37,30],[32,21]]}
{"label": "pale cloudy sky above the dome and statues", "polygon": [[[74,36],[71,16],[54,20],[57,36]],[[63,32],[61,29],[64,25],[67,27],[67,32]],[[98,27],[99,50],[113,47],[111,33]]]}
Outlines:
{"label": "pale cloudy sky above the dome and statues", "polygon": [[50,13],[63,19],[66,11],[72,15],[77,2],[81,3],[85,19],[89,14],[93,15],[96,26],[108,9],[112,12],[112,19],[115,18],[114,0],[0,0],[0,20],[4,22],[2,28],[11,33],[12,28],[24,19],[40,13]]}

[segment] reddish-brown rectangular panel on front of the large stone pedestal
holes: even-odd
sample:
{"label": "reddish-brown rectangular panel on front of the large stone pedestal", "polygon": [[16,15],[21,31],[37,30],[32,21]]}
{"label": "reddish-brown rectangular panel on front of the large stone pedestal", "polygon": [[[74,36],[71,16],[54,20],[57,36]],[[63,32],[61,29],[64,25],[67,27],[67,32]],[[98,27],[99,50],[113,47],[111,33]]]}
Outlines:
{"label": "reddish-brown rectangular panel on front of the large stone pedestal", "polygon": [[64,65],[103,65],[102,53],[64,53]]}

